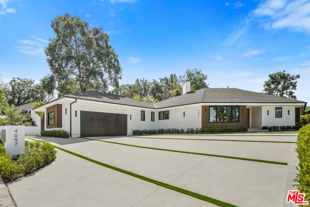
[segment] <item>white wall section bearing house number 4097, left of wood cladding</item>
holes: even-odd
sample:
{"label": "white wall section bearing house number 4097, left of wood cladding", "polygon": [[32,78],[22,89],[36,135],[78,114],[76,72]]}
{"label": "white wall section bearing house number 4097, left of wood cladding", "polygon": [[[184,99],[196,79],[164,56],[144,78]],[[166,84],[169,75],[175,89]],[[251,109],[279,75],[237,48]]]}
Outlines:
{"label": "white wall section bearing house number 4097, left of wood cladding", "polygon": [[[158,120],[159,111],[169,110],[169,119]],[[199,111],[198,111],[199,110]],[[183,117],[185,112],[185,117]],[[198,117],[199,112],[199,117]],[[200,128],[201,127],[201,105],[199,106],[184,106],[174,109],[162,109],[155,112],[156,129],[160,128]]]}

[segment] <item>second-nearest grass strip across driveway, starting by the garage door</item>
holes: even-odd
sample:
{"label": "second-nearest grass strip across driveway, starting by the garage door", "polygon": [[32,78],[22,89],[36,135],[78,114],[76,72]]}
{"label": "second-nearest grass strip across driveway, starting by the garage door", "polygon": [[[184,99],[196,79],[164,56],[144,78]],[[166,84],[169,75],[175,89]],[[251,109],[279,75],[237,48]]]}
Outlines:
{"label": "second-nearest grass strip across driveway, starting by the garage door", "polygon": [[212,156],[212,157],[222,157],[222,158],[237,159],[237,160],[247,160],[247,161],[254,161],[254,162],[265,162],[265,163],[271,163],[271,164],[287,165],[286,162],[276,162],[276,161],[269,161],[269,160],[257,160],[257,159],[243,158],[243,157],[231,157],[231,156],[225,156],[225,155],[212,155],[212,154],[205,154],[205,153],[199,153],[199,152],[187,152],[187,151],[179,151],[179,150],[168,150],[168,149],[154,148],[154,147],[147,147],[147,146],[130,145],[130,144],[124,144],[124,143],[119,143],[119,142],[109,142],[109,141],[104,141],[104,140],[99,140],[99,139],[91,139],[91,138],[86,138],[86,137],[79,137],[79,138],[90,139],[90,140],[95,140],[95,141],[99,141],[99,142],[108,142],[108,143],[112,143],[112,144],[134,146],[134,147],[140,147],[140,148],[146,148],[146,149],[152,149],[152,150],[162,150],[162,151],[180,152],[180,153],[187,153],[187,154],[194,154],[194,155],[205,155],[205,156]]}

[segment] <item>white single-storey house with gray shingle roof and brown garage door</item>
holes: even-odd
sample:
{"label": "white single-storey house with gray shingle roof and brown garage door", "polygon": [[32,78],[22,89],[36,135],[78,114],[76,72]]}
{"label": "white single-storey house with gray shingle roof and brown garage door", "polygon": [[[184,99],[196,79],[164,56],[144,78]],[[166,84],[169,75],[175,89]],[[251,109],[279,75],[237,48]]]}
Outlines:
{"label": "white single-storey house with gray shingle roof and brown garage door", "polygon": [[[35,111],[45,112],[46,130],[71,137],[132,135],[135,129],[295,125],[307,103],[237,88],[202,88],[157,103],[87,91],[59,97]],[[42,127],[43,128],[43,127]]]}

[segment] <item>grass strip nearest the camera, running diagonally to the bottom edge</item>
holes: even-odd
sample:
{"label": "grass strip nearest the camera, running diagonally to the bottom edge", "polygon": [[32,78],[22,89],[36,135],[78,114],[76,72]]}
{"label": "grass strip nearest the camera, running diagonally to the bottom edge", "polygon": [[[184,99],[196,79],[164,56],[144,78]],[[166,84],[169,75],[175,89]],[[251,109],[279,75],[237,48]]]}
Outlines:
{"label": "grass strip nearest the camera, running diagonally to the bottom edge", "polygon": [[[42,142],[40,140],[36,140],[36,139],[32,139],[32,138],[29,138],[29,137],[25,137],[27,139],[31,139],[31,140],[34,140],[34,141],[39,141],[39,142]],[[83,137],[81,137],[83,138]],[[93,139],[91,139],[93,140]],[[54,145],[55,146],[55,145]],[[69,154],[71,155],[75,155],[75,156],[78,156],[82,159],[85,159],[85,160],[88,160],[90,162],[93,162],[93,163],[96,163],[96,164],[100,164],[101,166],[104,166],[104,167],[107,167],[107,168],[110,168],[110,169],[113,169],[113,170],[116,170],[118,172],[121,172],[121,173],[125,173],[127,175],[131,175],[135,178],[139,178],[141,180],[144,180],[144,181],[147,181],[147,182],[151,182],[151,183],[154,183],[156,185],[159,185],[159,186],[162,186],[162,187],[165,187],[165,188],[169,188],[171,190],[174,190],[174,191],[177,191],[177,192],[180,192],[180,193],[183,193],[183,194],[186,194],[186,195],[189,195],[189,196],[192,196],[194,198],[197,198],[197,199],[200,199],[200,200],[204,200],[204,201],[207,201],[207,202],[210,202],[210,203],[213,203],[215,205],[219,205],[219,206],[223,206],[223,207],[238,207],[237,205],[232,205],[230,203],[226,203],[224,201],[221,201],[221,200],[217,200],[217,199],[214,199],[214,198],[211,198],[211,197],[208,197],[208,196],[204,196],[204,195],[201,195],[199,193],[195,193],[195,192],[192,192],[192,191],[188,191],[188,190],[185,190],[183,188],[180,188],[180,187],[176,187],[176,186],[173,186],[173,185],[170,185],[168,183],[164,183],[164,182],[160,182],[160,181],[157,181],[157,180],[154,180],[154,179],[151,179],[151,178],[148,178],[148,177],[145,177],[145,176],[142,176],[142,175],[139,175],[139,174],[136,174],[136,173],[132,173],[130,171],[127,171],[127,170],[124,170],[124,169],[121,169],[121,168],[117,168],[117,167],[114,167],[112,165],[109,165],[109,164],[105,164],[105,163],[102,163],[102,162],[99,162],[97,160],[93,160],[91,158],[88,158],[88,157],[85,157],[83,155],[80,155],[80,154],[77,154],[75,152],[71,152],[69,150],[65,150],[63,148],[60,148],[58,146],[55,146],[56,149],[59,149],[59,150],[62,150],[64,152],[68,152]]]}

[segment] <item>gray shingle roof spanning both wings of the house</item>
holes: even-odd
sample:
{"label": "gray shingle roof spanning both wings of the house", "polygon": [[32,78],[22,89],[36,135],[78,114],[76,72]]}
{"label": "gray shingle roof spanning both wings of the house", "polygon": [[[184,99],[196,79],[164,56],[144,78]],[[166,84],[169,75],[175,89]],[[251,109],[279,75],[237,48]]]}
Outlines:
{"label": "gray shingle roof spanning both wings of the house", "polygon": [[301,103],[294,99],[277,97],[258,92],[241,90],[238,88],[202,88],[194,92],[188,92],[184,95],[173,97],[157,103],[148,103],[137,101],[120,95],[87,91],[65,95],[64,97],[85,99],[91,101],[101,101],[128,106],[139,106],[145,108],[166,108],[171,106],[181,106],[194,103]]}

